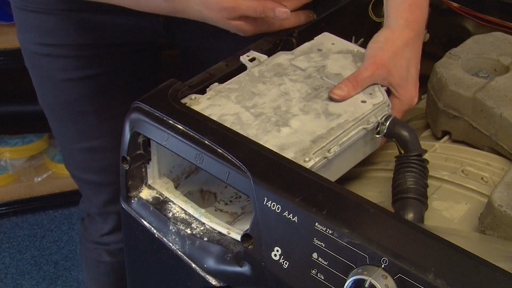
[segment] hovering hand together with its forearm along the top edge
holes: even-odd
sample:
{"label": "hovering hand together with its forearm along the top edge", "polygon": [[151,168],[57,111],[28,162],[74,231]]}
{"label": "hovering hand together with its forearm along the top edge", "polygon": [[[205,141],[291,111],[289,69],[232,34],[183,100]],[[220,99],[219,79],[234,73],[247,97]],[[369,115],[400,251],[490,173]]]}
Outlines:
{"label": "hovering hand together with its forearm along the top edge", "polygon": [[208,23],[242,36],[297,27],[316,18],[296,11],[313,0],[90,0]]}

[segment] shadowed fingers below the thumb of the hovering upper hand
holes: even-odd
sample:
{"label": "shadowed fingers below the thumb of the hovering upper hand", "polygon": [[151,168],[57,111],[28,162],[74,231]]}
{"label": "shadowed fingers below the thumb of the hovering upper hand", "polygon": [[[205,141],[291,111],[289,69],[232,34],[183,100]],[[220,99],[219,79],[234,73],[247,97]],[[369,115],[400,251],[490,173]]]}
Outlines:
{"label": "shadowed fingers below the thumb of the hovering upper hand", "polygon": [[313,21],[315,18],[316,15],[312,11],[292,12],[290,18],[287,20],[241,18],[240,20],[232,21],[235,27],[235,31],[233,32],[242,36],[253,36],[304,25]]}

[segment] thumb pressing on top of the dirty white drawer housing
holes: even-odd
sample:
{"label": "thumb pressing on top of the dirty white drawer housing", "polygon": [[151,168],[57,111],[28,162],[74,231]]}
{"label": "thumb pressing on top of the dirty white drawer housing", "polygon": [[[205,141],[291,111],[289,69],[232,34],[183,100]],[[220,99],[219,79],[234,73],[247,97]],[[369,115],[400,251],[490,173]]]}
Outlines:
{"label": "thumb pressing on top of the dirty white drawer housing", "polygon": [[343,79],[329,91],[329,99],[342,102],[374,84],[374,74],[368,65],[361,65],[354,73]]}

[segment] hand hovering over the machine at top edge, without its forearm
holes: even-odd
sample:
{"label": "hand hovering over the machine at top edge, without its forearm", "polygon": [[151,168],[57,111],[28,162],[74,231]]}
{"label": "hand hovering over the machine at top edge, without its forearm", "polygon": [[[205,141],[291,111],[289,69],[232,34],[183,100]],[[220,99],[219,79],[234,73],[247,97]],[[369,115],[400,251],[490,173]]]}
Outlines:
{"label": "hand hovering over the machine at top edge, without its forearm", "polygon": [[[201,21],[242,36],[279,31],[303,25],[316,17],[296,11],[312,0],[196,0],[183,1],[183,18]],[[190,7],[192,5],[192,7]]]}

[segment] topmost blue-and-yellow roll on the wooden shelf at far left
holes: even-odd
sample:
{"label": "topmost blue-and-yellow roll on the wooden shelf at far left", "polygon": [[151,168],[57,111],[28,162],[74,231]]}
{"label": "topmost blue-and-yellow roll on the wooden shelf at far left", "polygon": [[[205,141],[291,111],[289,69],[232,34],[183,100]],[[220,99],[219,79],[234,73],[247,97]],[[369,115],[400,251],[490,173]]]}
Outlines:
{"label": "topmost blue-and-yellow roll on the wooden shelf at far left", "polygon": [[[26,139],[22,139],[23,137],[26,138],[33,138],[34,142],[30,142],[30,139],[26,141]],[[17,138],[17,139],[16,139]],[[13,136],[4,138],[0,141],[0,144],[3,144],[3,142],[16,142],[15,145],[0,145],[0,157],[1,158],[8,158],[8,159],[18,159],[18,158],[25,158],[30,157],[32,155],[36,155],[38,153],[41,153],[44,149],[46,149],[50,142],[50,136],[49,134],[44,134],[42,137],[38,137],[38,135],[21,135],[21,136]],[[14,141],[10,141],[14,140]],[[29,142],[28,144],[25,144],[23,142]]]}

